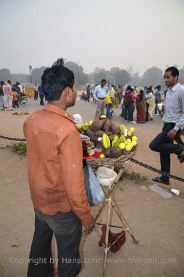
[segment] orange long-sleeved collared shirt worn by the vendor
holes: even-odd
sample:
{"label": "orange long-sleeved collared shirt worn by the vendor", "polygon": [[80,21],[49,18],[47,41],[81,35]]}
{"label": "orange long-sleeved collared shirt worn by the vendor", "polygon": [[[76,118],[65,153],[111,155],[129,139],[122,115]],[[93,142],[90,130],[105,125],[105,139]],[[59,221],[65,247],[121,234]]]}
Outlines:
{"label": "orange long-sleeved collared shirt worn by the vendor", "polygon": [[28,180],[33,206],[48,215],[71,210],[82,223],[91,219],[84,189],[82,141],[74,118],[47,104],[24,122]]}

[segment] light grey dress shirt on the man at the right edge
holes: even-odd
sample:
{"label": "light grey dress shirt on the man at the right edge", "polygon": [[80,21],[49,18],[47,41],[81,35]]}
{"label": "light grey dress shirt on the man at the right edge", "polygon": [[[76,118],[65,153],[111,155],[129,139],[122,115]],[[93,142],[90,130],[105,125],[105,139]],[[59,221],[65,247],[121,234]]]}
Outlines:
{"label": "light grey dress shirt on the man at the right edge", "polygon": [[184,128],[184,87],[180,83],[167,89],[163,122],[176,123],[176,131]]}

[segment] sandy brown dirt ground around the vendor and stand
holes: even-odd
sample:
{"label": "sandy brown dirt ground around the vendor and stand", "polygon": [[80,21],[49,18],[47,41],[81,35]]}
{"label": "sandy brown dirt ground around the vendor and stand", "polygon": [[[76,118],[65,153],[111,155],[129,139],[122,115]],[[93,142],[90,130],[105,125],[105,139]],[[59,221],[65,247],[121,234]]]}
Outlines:
{"label": "sandy brown dirt ground around the vendor and stand", "polygon": [[[27,107],[21,110],[32,112],[41,108],[39,101],[28,100]],[[69,109],[72,114],[80,113],[84,121],[93,120],[95,105],[79,99],[76,106]],[[123,123],[117,111],[113,121]],[[0,135],[23,137],[22,124],[26,118],[13,116],[11,112],[0,111]],[[127,124],[130,127],[130,124]],[[160,169],[159,154],[148,148],[149,142],[162,128],[161,118],[154,116],[148,124],[136,125],[139,147],[135,158],[143,163]],[[10,144],[0,139],[1,144]],[[126,233],[126,242],[116,254],[109,252],[107,277],[182,277],[184,276],[184,183],[170,180],[170,186],[159,185],[165,191],[171,188],[180,190],[166,200],[149,189],[154,184],[153,171],[144,169],[132,162],[127,164],[128,170],[140,172],[148,177],[141,185],[132,181],[120,181],[113,199],[123,213],[136,239]],[[171,156],[171,173],[184,178],[184,166],[176,155]],[[123,190],[122,190],[123,188]],[[95,216],[99,207],[92,208]],[[105,223],[106,210],[98,222]],[[111,214],[111,224],[121,226],[116,213]],[[11,148],[0,149],[0,277],[26,277],[27,259],[34,231],[34,212],[30,199],[27,181],[26,157],[14,153]],[[112,228],[118,233],[120,229]],[[95,231],[82,236],[80,252],[82,271],[79,277],[101,277],[103,268],[103,248],[98,246],[101,230],[96,225]],[[56,246],[53,242],[53,253]]]}

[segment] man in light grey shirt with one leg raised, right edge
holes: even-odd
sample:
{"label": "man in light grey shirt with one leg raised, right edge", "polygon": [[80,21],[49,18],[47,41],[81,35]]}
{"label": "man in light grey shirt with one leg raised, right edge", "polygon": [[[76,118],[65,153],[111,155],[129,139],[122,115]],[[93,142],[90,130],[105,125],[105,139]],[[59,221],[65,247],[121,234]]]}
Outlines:
{"label": "man in light grey shirt with one leg raised, right edge", "polygon": [[[184,146],[173,144],[173,139],[184,128],[184,87],[178,83],[179,71],[171,66],[164,72],[165,85],[168,87],[164,110],[164,127],[162,133],[150,143],[149,148],[160,152],[161,170],[170,173],[170,154],[178,155],[180,163],[184,162]],[[153,181],[169,185],[169,177],[162,175]]]}

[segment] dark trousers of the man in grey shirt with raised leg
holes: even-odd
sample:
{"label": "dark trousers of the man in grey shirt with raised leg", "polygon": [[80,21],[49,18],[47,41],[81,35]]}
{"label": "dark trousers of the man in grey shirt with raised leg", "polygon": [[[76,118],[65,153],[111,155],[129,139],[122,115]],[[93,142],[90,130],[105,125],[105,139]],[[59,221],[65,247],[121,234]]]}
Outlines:
{"label": "dark trousers of the man in grey shirt with raised leg", "polygon": [[[166,137],[167,133],[174,127],[175,123],[164,124],[162,133],[158,134],[149,145],[151,150],[160,152],[161,170],[166,173],[170,173],[170,154],[180,155],[184,151],[184,147],[181,144],[173,144],[173,140]],[[169,177],[164,175],[160,179],[163,182],[169,182]]]}

